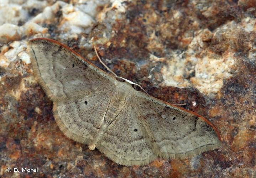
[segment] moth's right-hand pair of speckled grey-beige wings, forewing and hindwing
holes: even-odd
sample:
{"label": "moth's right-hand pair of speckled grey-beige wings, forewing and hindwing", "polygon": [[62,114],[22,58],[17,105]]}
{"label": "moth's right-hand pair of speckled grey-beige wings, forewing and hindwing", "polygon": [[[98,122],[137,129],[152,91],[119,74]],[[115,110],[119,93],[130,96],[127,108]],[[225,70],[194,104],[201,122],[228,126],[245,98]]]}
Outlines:
{"label": "moth's right-hand pair of speckled grey-beige wings, forewing and hindwing", "polygon": [[218,131],[202,116],[135,93],[97,145],[113,161],[145,165],[157,156],[184,159],[220,146]]}

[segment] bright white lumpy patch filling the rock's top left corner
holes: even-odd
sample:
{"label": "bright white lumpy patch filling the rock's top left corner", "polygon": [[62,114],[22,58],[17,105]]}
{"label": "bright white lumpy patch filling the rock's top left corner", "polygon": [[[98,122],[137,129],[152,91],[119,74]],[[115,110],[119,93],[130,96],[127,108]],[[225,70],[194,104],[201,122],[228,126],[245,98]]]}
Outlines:
{"label": "bright white lumpy patch filling the rock's top left corner", "polygon": [[[98,6],[104,6],[109,1],[80,0],[67,4],[63,1],[1,1],[0,3],[0,43],[18,41],[22,37],[32,35],[41,37],[40,34],[48,32],[48,24],[56,23],[57,28],[63,33],[60,37],[72,38],[80,33],[89,33],[95,23],[98,14]],[[118,3],[117,3],[118,4]],[[119,7],[119,5],[118,5]],[[30,16],[31,12],[40,12],[36,16]],[[57,12],[61,12],[59,17]],[[43,26],[47,27],[43,27]],[[35,35],[39,34],[39,35]],[[43,35],[47,36],[47,35]]]}

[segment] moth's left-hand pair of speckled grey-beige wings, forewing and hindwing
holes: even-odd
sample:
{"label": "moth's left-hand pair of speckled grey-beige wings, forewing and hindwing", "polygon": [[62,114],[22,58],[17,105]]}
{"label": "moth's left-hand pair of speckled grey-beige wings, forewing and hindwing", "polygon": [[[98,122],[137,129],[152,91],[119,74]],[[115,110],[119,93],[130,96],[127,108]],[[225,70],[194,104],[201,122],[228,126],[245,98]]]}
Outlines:
{"label": "moth's left-hand pair of speckled grey-beige wings, forewing and hindwing", "polygon": [[89,144],[100,129],[115,79],[57,41],[36,38],[28,47],[36,79],[53,101],[60,129]]}

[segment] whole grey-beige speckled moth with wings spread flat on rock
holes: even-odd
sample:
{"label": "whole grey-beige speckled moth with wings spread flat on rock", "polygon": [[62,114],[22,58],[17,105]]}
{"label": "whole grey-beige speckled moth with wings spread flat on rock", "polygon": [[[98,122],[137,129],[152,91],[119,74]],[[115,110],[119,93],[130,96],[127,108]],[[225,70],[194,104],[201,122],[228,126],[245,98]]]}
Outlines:
{"label": "whole grey-beige speckled moth with wings spread flat on rock", "polygon": [[135,90],[67,46],[36,38],[28,48],[59,128],[90,150],[131,166],[220,147],[218,130],[204,117]]}

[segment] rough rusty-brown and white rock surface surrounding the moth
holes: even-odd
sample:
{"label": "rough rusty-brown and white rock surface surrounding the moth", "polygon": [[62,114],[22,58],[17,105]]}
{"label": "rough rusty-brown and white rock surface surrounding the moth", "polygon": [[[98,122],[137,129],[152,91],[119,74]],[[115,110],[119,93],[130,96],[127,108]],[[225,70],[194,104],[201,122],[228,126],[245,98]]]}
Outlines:
{"label": "rough rusty-brown and white rock surface surrounding the moth", "polygon": [[[256,177],[255,17],[254,0],[0,0],[0,177]],[[68,139],[33,76],[36,37],[103,68],[96,46],[120,77],[209,119],[222,146],[126,167]]]}

